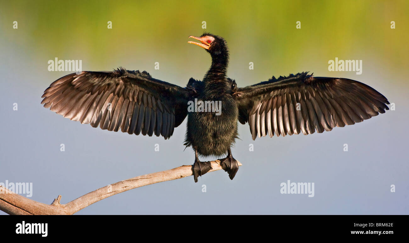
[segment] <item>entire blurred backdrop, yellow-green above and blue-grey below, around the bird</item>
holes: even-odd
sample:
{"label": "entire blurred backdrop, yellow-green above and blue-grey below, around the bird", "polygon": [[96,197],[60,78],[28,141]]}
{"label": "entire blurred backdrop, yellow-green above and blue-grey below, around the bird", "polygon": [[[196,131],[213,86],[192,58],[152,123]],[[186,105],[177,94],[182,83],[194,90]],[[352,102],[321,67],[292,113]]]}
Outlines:
{"label": "entire blurred backdrop, yellow-green above and blue-grey below, around the bird", "polygon": [[[187,84],[210,56],[187,44],[207,31],[230,47],[238,86],[313,71],[364,82],[396,104],[362,123],[308,136],[251,139],[239,125],[226,172],[149,185],[77,214],[408,214],[408,3],[405,1],[15,1],[0,7],[0,182],[32,182],[31,199],[67,203],[99,187],[193,163],[183,151],[186,120],[170,140],[81,125],[40,105],[51,82],[48,60],[82,60],[83,70],[118,66]],[[18,29],[13,29],[18,21]],[[107,29],[112,21],[112,29]],[[296,29],[301,21],[301,29]],[[390,22],[396,22],[396,29]],[[362,75],[330,72],[328,60],[363,60]],[[154,63],[160,62],[160,70]],[[249,70],[254,62],[254,70]],[[18,111],[13,111],[18,103]],[[65,152],[60,152],[60,144]],[[254,152],[249,144],[254,144]],[[348,152],[343,151],[344,143]],[[155,152],[155,144],[160,152]],[[212,158],[216,159],[216,158]],[[315,183],[315,196],[281,194],[280,183]],[[396,192],[391,192],[391,185]],[[202,192],[206,185],[207,192]],[[5,214],[0,212],[0,214]]]}

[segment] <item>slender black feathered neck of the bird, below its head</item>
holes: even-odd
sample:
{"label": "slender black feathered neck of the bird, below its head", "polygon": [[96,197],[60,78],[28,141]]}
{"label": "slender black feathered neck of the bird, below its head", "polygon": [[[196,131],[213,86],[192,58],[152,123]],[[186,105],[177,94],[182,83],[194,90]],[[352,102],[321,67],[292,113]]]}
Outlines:
{"label": "slender black feathered neck of the bird, below its head", "polygon": [[206,83],[223,82],[226,79],[229,54],[222,53],[211,57],[211,66],[203,81]]}

